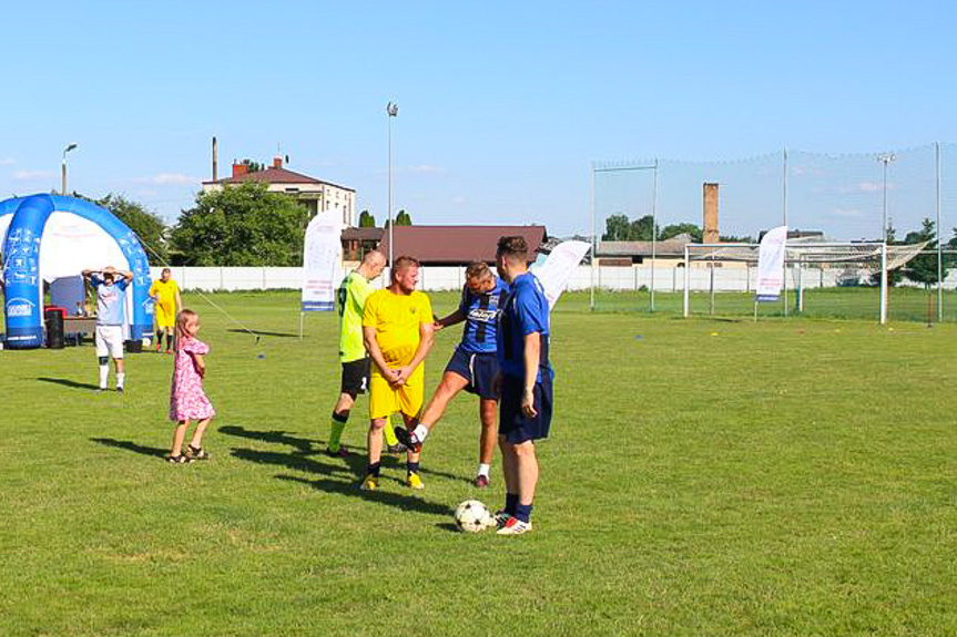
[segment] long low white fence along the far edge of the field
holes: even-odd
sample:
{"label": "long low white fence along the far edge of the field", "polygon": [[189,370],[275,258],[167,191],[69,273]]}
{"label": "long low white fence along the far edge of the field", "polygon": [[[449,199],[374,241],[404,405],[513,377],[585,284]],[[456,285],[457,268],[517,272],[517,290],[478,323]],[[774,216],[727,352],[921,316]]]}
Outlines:
{"label": "long low white fence along the far edge of the field", "polygon": [[[194,268],[174,267],[173,278],[182,289],[210,290],[274,290],[302,289],[303,268]],[[153,278],[159,278],[162,268],[151,268]],[[712,273],[706,267],[692,267],[690,288],[707,291],[712,286]],[[805,267],[798,273],[792,268],[787,286],[792,289],[834,287],[841,276],[839,269]],[[381,287],[388,273],[375,281]],[[591,287],[591,266],[579,266],[568,282],[568,290],[587,290]],[[715,291],[753,291],[757,277],[755,268],[715,268]],[[426,291],[459,290],[465,284],[465,268],[428,266],[419,269],[419,288]],[[647,266],[601,266],[594,268],[594,285],[609,290],[638,290],[651,287],[651,268]],[[944,279],[945,289],[957,289],[957,270]],[[684,268],[659,267],[654,269],[655,291],[670,292],[684,289]]]}

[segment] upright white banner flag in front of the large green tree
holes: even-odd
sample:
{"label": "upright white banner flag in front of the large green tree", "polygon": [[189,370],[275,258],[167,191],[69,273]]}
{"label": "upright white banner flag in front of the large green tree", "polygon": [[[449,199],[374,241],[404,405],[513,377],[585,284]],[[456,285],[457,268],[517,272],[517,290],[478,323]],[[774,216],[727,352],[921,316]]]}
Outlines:
{"label": "upright white banner flag in front of the large green tree", "polygon": [[303,246],[303,311],[335,311],[342,278],[343,222],[339,213],[319,213],[309,222]]}

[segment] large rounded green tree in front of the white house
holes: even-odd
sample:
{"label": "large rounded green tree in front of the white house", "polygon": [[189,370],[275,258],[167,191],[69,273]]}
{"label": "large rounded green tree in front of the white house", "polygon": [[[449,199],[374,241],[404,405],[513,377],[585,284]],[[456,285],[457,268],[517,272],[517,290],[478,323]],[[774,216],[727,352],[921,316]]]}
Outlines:
{"label": "large rounded green tree in front of the white house", "polygon": [[307,210],[293,197],[246,182],[196,195],[173,228],[179,265],[296,266]]}

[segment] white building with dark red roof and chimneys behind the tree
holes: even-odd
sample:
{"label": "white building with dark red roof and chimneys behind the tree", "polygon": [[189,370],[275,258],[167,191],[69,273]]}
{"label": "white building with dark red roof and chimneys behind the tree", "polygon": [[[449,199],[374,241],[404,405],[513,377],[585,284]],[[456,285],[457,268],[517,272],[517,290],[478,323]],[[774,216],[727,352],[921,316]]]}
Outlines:
{"label": "white building with dark red roof and chimneys behind the tree", "polygon": [[245,182],[266,184],[269,192],[295,196],[309,210],[310,217],[320,210],[337,210],[342,214],[346,227],[355,227],[358,223],[356,192],[353,188],[288,171],[283,167],[282,157],[274,157],[272,166],[256,173],[248,172],[246,164],[234,162],[231,177],[203,182],[203,191],[222,191]]}

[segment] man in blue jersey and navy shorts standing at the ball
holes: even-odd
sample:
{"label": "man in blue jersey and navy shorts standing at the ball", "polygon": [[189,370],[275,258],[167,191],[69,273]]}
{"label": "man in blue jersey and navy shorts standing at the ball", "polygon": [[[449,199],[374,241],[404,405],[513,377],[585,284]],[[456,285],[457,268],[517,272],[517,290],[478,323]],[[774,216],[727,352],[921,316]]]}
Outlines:
{"label": "man in blue jersey and navy shorts standing at the ball", "polygon": [[496,250],[498,274],[511,284],[498,323],[500,389],[499,448],[506,504],[496,517],[499,535],[531,531],[538,483],[535,441],[548,436],[552,412],[552,370],[548,361],[548,300],[541,282],[528,271],[528,244],[502,237]]}

